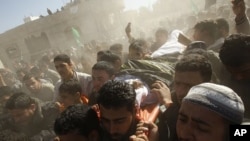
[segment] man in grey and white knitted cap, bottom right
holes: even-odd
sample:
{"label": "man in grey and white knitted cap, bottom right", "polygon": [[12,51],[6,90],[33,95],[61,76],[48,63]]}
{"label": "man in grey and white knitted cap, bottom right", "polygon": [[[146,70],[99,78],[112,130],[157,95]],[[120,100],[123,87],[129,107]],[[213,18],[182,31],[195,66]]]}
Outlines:
{"label": "man in grey and white knitted cap, bottom right", "polygon": [[176,131],[179,140],[228,141],[229,125],[241,124],[244,104],[230,88],[202,83],[183,98]]}

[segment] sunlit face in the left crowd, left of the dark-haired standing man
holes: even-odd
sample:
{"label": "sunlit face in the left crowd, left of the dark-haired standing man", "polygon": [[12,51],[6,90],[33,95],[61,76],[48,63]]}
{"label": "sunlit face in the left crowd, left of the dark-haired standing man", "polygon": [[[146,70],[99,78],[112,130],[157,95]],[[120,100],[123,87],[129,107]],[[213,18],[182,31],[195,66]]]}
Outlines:
{"label": "sunlit face in the left crowd, left of the dark-haired standing man", "polygon": [[31,77],[31,79],[24,81],[24,84],[30,92],[37,93],[40,90],[41,82]]}

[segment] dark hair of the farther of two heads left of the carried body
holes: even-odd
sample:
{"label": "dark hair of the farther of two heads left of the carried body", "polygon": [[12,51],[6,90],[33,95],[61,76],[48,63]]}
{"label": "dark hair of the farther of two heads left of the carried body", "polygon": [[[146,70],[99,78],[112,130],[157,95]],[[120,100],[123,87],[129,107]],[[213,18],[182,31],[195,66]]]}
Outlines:
{"label": "dark hair of the farther of two heads left of the carried body", "polygon": [[100,55],[98,61],[107,61],[110,62],[111,64],[114,64],[117,60],[121,60],[121,58],[118,55],[110,51],[103,51],[103,54]]}

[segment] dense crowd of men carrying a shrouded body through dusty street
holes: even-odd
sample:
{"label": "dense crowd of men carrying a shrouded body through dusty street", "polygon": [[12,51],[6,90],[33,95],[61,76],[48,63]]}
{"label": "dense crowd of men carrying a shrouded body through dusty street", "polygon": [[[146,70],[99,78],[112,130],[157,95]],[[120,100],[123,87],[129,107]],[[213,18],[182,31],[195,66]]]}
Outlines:
{"label": "dense crowd of men carrying a shrouded body through dusty street", "polygon": [[250,118],[246,7],[233,1],[233,27],[200,20],[192,39],[159,28],[150,43],[129,23],[128,54],[119,43],[99,50],[91,73],[68,52],[1,69],[0,140],[228,141]]}

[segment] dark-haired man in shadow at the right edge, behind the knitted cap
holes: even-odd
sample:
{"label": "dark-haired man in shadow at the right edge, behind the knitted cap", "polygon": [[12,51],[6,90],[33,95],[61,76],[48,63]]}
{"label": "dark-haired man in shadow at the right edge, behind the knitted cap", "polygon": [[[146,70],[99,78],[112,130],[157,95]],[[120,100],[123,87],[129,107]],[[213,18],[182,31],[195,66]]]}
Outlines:
{"label": "dark-haired man in shadow at the right edge, behind the knitted cap", "polygon": [[250,36],[232,34],[228,36],[220,50],[219,57],[231,77],[222,81],[232,88],[243,100],[246,118],[250,118]]}

